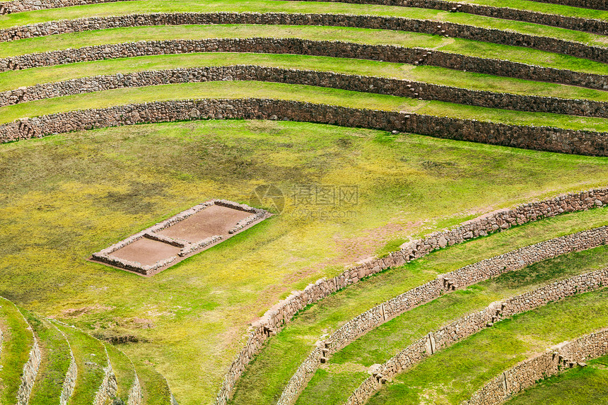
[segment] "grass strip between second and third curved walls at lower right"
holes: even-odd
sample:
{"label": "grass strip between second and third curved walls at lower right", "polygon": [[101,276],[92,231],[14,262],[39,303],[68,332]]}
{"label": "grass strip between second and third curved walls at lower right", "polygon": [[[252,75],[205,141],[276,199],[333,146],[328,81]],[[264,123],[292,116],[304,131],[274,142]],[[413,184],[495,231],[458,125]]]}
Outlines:
{"label": "grass strip between second and third curved walls at lower right", "polygon": [[371,365],[385,363],[429,331],[482,310],[495,301],[607,265],[608,247],[598,247],[506,273],[416,307],[334,354],[312,377],[298,399],[298,405],[344,404],[353,389],[368,377],[366,370]]}

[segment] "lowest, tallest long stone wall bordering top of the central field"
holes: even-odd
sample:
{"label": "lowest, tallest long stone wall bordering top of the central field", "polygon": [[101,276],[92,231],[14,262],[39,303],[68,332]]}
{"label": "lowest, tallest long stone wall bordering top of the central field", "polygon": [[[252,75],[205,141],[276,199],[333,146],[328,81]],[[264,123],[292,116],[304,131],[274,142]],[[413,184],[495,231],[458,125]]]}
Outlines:
{"label": "lowest, tallest long stone wall bordering top of the central field", "polygon": [[608,134],[257,98],[147,102],[62,112],[0,125],[0,143],[47,134],[187,119],[283,119],[402,131],[538,151],[608,155]]}

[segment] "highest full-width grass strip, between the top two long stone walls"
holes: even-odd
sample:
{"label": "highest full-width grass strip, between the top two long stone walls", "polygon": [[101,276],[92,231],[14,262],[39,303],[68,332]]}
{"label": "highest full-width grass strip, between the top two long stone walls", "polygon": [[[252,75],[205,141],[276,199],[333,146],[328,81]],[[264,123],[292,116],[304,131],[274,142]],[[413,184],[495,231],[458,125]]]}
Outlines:
{"label": "highest full-width grass strip, between the top two long stone walls", "polygon": [[[427,8],[407,8],[400,6],[375,6],[368,4],[320,3],[317,1],[240,1],[240,0],[197,0],[197,1],[124,1],[107,4],[93,4],[67,8],[55,8],[26,13],[13,13],[0,17],[0,28],[27,25],[52,20],[74,19],[91,16],[116,16],[130,13],[155,12],[281,12],[281,13],[335,13],[369,16],[395,16],[433,21],[445,21],[474,25],[498,30],[512,30],[518,33],[559,37],[563,40],[583,42],[587,45],[608,47],[606,37],[575,30],[549,27],[547,25],[501,20],[467,13]],[[605,13],[608,16],[608,13]],[[608,18],[607,18],[608,19]]]}

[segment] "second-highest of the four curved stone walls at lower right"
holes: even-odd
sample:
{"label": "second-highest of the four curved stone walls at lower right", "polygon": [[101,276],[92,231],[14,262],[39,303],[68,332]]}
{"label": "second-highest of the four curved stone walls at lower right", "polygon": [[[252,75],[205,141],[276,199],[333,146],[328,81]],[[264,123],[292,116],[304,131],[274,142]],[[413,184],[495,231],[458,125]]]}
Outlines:
{"label": "second-highest of the four curved stone walls at lower right", "polygon": [[351,344],[368,331],[379,327],[404,312],[419,305],[428,303],[453,290],[466,288],[480,281],[488,280],[508,271],[523,269],[530,264],[542,262],[546,259],[561,256],[571,252],[592,249],[608,242],[608,227],[585,230],[555,239],[539,242],[534,245],[522,247],[500,256],[491,257],[461,269],[440,274],[433,281],[429,281],[397,297],[387,300],[380,305],[354,317],[337,331],[329,335],[322,347],[317,347],[303,361],[283,389],[278,405],[291,405],[296,402],[312,375],[325,363],[327,358],[344,346]]}

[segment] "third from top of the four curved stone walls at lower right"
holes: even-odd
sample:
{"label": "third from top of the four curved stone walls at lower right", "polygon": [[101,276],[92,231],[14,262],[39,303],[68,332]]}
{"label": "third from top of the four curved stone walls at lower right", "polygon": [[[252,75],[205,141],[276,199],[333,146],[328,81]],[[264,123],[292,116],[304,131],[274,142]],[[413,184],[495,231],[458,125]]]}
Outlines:
{"label": "third from top of the four curved stone walls at lower right", "polygon": [[[608,269],[592,271],[581,276],[551,283],[548,286],[509,298],[502,303],[492,303],[481,312],[462,317],[445,327],[429,333],[422,339],[404,348],[382,364],[346,400],[346,405],[363,405],[387,380],[432,356],[438,350],[452,346],[457,341],[491,327],[494,322],[515,314],[534,310],[556,300],[580,293],[604,288],[608,283]],[[481,402],[481,404],[484,404]]]}

